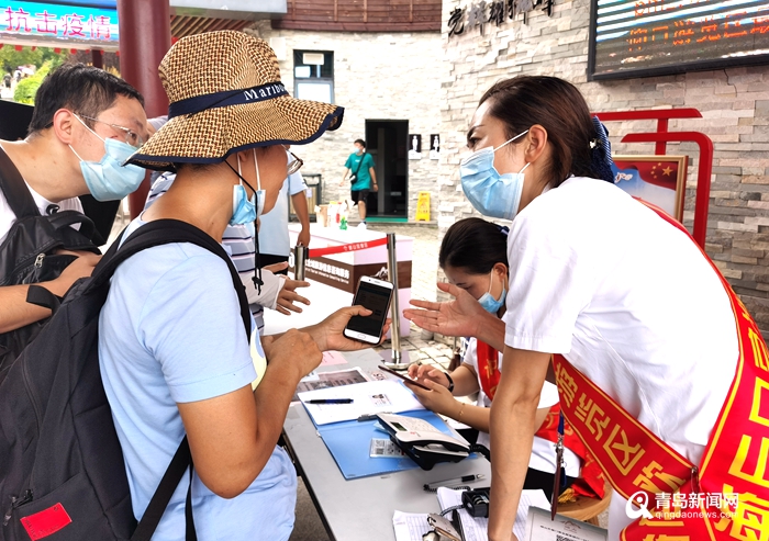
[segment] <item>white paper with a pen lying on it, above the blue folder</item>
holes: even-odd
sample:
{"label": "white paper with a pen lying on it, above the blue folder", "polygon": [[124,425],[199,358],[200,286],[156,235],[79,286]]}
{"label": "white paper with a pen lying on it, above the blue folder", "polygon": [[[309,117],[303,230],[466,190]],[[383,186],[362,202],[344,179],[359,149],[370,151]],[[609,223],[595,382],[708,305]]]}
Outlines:
{"label": "white paper with a pen lying on it, above the blue folder", "polygon": [[[309,404],[309,401],[350,398],[349,404]],[[372,381],[339,387],[319,388],[299,393],[299,399],[312,416],[315,425],[328,425],[354,420],[361,415],[409,412],[424,406],[397,381]]]}

